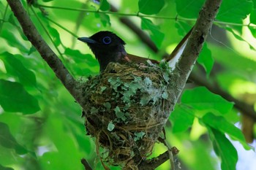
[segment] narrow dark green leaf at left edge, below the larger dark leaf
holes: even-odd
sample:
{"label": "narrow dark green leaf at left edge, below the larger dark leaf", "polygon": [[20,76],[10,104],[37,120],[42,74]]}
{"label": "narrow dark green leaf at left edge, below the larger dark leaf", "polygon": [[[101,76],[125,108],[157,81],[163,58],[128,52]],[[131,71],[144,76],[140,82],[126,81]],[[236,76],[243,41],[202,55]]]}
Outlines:
{"label": "narrow dark green leaf at left edge, below the larger dark leaf", "polygon": [[25,147],[18,144],[16,139],[12,136],[9,126],[6,123],[0,122],[0,144],[3,147],[9,149],[14,149],[15,152],[19,155],[24,155],[28,153]]}

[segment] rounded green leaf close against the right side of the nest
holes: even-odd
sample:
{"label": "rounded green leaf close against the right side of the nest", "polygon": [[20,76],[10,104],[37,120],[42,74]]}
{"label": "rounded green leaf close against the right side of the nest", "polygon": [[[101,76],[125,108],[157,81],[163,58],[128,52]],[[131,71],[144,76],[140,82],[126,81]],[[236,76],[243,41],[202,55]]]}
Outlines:
{"label": "rounded green leaf close against the right side of the nest", "polygon": [[170,114],[173,133],[187,131],[187,129],[192,126],[194,118],[195,116],[192,109],[189,109],[182,104],[177,104],[173,112]]}

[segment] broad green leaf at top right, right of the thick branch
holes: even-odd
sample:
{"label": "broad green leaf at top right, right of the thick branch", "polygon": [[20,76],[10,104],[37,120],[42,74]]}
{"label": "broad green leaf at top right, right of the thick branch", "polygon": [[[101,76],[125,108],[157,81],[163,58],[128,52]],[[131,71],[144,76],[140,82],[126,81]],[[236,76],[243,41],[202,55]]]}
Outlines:
{"label": "broad green leaf at top right, right of the thick branch", "polygon": [[252,1],[225,0],[219,8],[217,20],[229,23],[242,23],[246,16],[252,12],[252,8]]}

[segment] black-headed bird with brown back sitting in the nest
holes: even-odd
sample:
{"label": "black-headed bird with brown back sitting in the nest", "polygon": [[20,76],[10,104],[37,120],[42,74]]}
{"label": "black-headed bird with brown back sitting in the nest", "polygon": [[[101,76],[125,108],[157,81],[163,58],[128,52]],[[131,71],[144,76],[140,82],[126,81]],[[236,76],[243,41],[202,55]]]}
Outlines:
{"label": "black-headed bird with brown back sitting in the nest", "polygon": [[[171,53],[167,58],[164,58],[165,61],[170,62],[173,58],[177,58],[176,55],[180,53],[180,50],[184,50],[184,46],[187,44],[187,39],[191,32],[192,29],[176,46],[173,53]],[[160,62],[154,59],[143,58],[138,55],[127,53],[124,48],[124,45],[126,45],[124,40],[111,31],[99,31],[89,37],[79,37],[78,40],[85,42],[91,49],[92,53],[94,53],[95,58],[97,58],[97,61],[99,62],[99,72],[103,72],[110,62],[121,64],[146,63],[148,60],[151,61],[151,63]],[[170,65],[173,65],[173,63],[170,63]]]}

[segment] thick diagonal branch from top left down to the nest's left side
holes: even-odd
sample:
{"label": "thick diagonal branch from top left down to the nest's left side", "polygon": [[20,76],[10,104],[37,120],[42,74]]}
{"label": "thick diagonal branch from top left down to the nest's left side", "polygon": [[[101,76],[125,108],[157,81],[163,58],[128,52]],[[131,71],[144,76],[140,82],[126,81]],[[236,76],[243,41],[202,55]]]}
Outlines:
{"label": "thick diagonal branch from top left down to the nest's left side", "polygon": [[31,44],[34,45],[42,58],[48,63],[53,72],[55,72],[56,77],[61,80],[65,88],[69,90],[69,93],[71,93],[75,100],[79,102],[79,92],[75,88],[77,82],[67,71],[58,56],[53,52],[53,50],[50,49],[45,40],[42,39],[42,36],[37,31],[37,28],[34,26],[28,13],[21,4],[21,1],[7,0],[7,2],[10,5],[15,17],[18,19],[20,26],[23,28],[23,33],[29,39]]}

